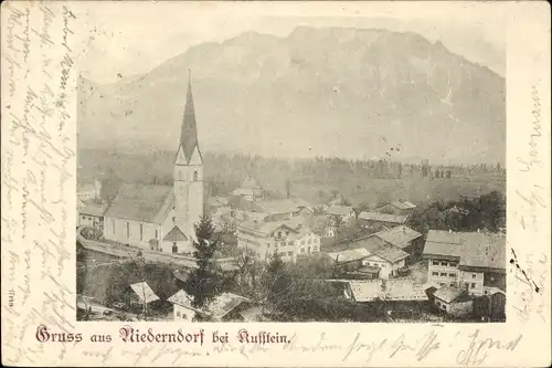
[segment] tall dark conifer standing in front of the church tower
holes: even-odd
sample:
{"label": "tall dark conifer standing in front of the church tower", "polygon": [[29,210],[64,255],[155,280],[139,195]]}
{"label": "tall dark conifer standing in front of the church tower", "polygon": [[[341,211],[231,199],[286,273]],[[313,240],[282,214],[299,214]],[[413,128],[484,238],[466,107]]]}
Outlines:
{"label": "tall dark conifer standing in front of the church tower", "polygon": [[223,288],[224,278],[220,267],[214,260],[214,254],[219,249],[220,240],[214,234],[214,227],[211,219],[202,217],[195,228],[195,251],[193,256],[198,267],[190,273],[184,291],[193,297],[192,305],[201,308],[216,297]]}

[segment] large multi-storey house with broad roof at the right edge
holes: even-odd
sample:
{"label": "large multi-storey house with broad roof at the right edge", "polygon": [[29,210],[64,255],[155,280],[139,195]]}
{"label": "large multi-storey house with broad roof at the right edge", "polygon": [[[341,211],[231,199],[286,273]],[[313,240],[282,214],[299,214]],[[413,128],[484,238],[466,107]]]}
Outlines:
{"label": "large multi-storey house with broad roof at the right edge", "polygon": [[506,291],[501,234],[429,230],[423,254],[428,283],[435,286],[467,288],[470,295],[487,295],[490,287]]}

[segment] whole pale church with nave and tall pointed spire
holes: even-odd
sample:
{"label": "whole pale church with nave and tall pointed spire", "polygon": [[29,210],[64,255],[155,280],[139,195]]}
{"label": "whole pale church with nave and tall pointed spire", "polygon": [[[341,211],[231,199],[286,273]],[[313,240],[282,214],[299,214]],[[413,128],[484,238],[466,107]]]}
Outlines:
{"label": "whole pale church with nave and tall pointed spire", "polygon": [[105,211],[104,238],[163,253],[193,252],[194,225],[203,215],[203,159],[190,76],[172,176],[172,186],[123,183]]}

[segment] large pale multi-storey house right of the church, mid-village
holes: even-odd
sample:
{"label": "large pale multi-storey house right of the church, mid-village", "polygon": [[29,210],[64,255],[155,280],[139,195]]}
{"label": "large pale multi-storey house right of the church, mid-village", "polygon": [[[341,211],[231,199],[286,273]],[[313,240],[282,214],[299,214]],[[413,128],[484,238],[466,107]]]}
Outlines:
{"label": "large pale multi-storey house right of the church, mid-village", "polygon": [[287,221],[246,220],[237,225],[237,248],[268,260],[275,252],[284,262],[320,252],[320,236],[301,218]]}

